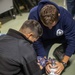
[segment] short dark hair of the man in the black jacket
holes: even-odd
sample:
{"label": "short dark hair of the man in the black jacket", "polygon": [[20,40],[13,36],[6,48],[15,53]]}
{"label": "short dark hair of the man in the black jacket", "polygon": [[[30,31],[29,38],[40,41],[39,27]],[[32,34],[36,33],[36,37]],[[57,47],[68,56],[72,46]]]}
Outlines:
{"label": "short dark hair of the man in the black jacket", "polygon": [[42,34],[43,34],[43,29],[40,25],[40,23],[36,20],[26,20],[21,29],[26,29],[26,28],[29,28],[31,30],[31,32],[34,33],[34,36],[37,38],[37,37],[40,37]]}

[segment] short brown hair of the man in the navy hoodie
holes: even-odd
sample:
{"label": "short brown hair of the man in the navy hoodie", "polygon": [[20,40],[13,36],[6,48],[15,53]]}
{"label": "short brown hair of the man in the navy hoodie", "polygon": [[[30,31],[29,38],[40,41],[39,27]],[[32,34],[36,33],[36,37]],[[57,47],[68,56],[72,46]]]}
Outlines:
{"label": "short brown hair of the man in the navy hoodie", "polygon": [[57,8],[52,4],[46,4],[42,7],[40,10],[40,19],[46,24],[46,20],[44,19],[45,16],[50,17],[50,22],[52,23],[54,21],[58,20],[58,10]]}

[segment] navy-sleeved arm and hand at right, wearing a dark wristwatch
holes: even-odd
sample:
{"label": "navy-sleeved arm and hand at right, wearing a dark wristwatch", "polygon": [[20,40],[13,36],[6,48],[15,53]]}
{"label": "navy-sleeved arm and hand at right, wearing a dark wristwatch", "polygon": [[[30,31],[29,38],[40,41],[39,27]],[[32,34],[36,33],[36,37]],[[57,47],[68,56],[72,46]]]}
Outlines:
{"label": "navy-sleeved arm and hand at right, wearing a dark wristwatch", "polygon": [[[64,16],[63,23],[64,34],[67,40],[67,48],[64,58],[62,59],[62,62],[64,63],[68,62],[69,58],[75,51],[75,21],[72,19],[72,16],[68,12],[66,16]],[[56,71],[56,73],[60,74],[65,67],[61,62],[57,62],[57,66],[58,70]]]}

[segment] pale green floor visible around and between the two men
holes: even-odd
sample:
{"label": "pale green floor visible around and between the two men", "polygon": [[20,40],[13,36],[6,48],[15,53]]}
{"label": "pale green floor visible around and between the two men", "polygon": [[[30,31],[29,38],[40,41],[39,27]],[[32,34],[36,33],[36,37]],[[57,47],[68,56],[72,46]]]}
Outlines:
{"label": "pale green floor visible around and between the two men", "polygon": [[[65,4],[65,0],[52,0],[54,2],[56,2],[58,5],[61,5],[63,7],[66,8],[66,4]],[[29,13],[22,13],[22,16],[20,15],[17,15],[16,16],[16,19],[12,19],[11,21],[5,23],[2,25],[2,28],[1,28],[1,32],[3,34],[7,33],[8,29],[9,28],[13,28],[13,29],[16,29],[18,30],[20,28],[20,26],[22,25],[22,23],[27,20],[27,17],[28,17],[28,14]],[[50,53],[49,53],[49,56],[53,57],[52,53],[53,53],[53,50],[58,46],[59,44],[54,44],[50,50]],[[70,58],[70,61],[71,61],[71,65],[70,67],[68,67],[65,72],[63,72],[62,75],[75,75],[75,55],[73,55],[71,58]]]}

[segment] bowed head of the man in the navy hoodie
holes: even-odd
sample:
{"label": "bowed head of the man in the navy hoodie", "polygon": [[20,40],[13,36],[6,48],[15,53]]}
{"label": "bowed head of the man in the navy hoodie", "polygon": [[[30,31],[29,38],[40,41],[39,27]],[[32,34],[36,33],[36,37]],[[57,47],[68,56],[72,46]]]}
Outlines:
{"label": "bowed head of the man in the navy hoodie", "polygon": [[40,19],[49,29],[56,25],[59,16],[57,8],[51,4],[44,5],[40,10]]}

